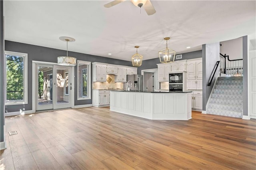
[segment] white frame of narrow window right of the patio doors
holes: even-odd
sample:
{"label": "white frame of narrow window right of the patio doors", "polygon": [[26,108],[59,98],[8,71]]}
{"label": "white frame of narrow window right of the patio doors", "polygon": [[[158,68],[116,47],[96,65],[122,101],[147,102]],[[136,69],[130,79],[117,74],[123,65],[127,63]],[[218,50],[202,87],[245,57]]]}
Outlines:
{"label": "white frame of narrow window right of the patio doors", "polygon": [[[87,97],[79,97],[79,64],[82,65],[87,65]],[[91,98],[91,87],[92,87],[92,82],[91,82],[91,62],[90,61],[82,61],[82,60],[77,60],[77,100],[88,100],[92,99]]]}

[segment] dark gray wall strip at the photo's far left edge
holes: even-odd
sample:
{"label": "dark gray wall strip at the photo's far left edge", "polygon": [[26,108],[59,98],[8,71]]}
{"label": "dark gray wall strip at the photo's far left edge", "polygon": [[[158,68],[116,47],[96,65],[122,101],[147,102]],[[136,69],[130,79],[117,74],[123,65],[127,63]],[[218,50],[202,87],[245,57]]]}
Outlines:
{"label": "dark gray wall strip at the photo's far left edge", "polygon": [[4,18],[0,0],[0,142],[4,142]]}

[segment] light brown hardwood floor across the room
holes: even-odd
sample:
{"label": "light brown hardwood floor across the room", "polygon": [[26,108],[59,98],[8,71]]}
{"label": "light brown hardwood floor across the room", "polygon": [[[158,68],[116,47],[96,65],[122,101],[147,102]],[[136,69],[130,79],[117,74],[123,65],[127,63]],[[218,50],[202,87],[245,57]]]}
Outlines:
{"label": "light brown hardwood floor across the room", "polygon": [[153,121],[87,107],[5,122],[1,170],[256,169],[255,120],[192,112],[188,121]]}

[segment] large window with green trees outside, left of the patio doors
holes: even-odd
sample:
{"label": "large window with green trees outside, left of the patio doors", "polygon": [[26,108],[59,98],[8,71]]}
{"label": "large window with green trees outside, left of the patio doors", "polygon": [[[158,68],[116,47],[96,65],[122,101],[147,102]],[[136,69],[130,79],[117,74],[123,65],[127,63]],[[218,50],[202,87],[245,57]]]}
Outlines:
{"label": "large window with green trees outside, left of the patio doors", "polygon": [[27,104],[28,54],[5,51],[5,105]]}

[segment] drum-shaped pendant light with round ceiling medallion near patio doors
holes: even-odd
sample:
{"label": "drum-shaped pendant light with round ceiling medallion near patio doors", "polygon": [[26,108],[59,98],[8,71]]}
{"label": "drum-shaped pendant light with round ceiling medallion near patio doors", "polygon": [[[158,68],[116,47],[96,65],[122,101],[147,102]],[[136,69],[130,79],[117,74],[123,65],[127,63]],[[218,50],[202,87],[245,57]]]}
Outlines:
{"label": "drum-shaped pendant light with round ceiling medallion near patio doors", "polygon": [[60,37],[60,40],[67,42],[67,56],[60,56],[57,58],[58,65],[67,65],[67,66],[75,66],[76,65],[76,58],[75,57],[68,57],[68,42],[76,41],[74,38],[71,37]]}

